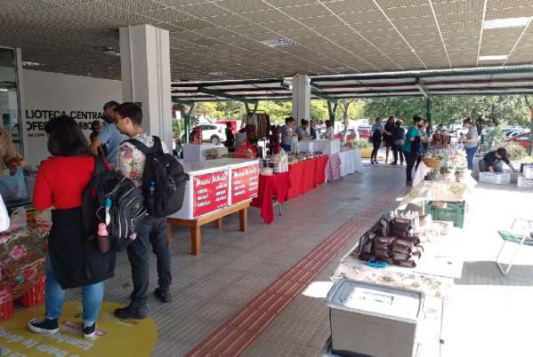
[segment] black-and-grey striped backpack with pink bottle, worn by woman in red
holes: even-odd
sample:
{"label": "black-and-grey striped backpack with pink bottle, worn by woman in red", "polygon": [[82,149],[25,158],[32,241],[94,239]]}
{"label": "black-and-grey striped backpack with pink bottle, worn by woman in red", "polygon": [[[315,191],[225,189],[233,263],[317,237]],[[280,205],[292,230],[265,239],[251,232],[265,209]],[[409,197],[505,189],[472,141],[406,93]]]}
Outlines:
{"label": "black-and-grey striped backpack with pink bottle, worn by woman in red", "polygon": [[113,250],[124,250],[136,237],[136,229],[146,216],[141,188],[130,178],[109,170],[100,156],[94,158],[93,177],[82,197],[85,232],[89,239],[97,236],[98,225],[106,223],[109,199],[108,233]]}

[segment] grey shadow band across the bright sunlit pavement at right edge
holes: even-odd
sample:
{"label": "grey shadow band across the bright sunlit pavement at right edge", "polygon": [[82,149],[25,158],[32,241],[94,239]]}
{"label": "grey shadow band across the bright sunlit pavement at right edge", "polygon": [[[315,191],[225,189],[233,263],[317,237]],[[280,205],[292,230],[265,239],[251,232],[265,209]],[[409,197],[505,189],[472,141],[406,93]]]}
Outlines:
{"label": "grey shadow band across the bright sunlit pavement at right edge", "polygon": [[457,285],[533,286],[533,265],[515,265],[504,275],[493,261],[464,262],[463,276],[455,282]]}

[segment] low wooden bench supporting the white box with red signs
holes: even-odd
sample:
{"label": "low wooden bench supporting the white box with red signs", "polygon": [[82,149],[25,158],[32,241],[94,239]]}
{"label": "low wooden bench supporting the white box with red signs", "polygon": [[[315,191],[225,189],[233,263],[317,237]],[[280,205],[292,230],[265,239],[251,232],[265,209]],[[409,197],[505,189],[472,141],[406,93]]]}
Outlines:
{"label": "low wooden bench supporting the white box with red signs", "polygon": [[196,219],[179,219],[179,218],[166,218],[166,242],[170,246],[172,242],[172,226],[189,226],[190,227],[190,254],[193,256],[199,256],[201,254],[201,226],[205,226],[208,223],[214,222],[216,228],[222,227],[222,218],[229,216],[232,213],[238,212],[239,228],[241,232],[246,232],[248,222],[248,207],[250,207],[252,200],[246,200],[233,204],[222,210],[216,210],[213,213],[206,214],[205,216]]}

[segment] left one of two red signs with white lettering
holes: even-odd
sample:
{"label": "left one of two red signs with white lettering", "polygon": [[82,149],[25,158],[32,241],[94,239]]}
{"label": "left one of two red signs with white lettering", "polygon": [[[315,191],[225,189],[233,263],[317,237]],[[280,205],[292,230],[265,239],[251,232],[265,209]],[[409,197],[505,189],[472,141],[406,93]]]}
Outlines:
{"label": "left one of two red signs with white lettering", "polygon": [[205,215],[228,206],[229,172],[216,171],[193,178],[193,215]]}

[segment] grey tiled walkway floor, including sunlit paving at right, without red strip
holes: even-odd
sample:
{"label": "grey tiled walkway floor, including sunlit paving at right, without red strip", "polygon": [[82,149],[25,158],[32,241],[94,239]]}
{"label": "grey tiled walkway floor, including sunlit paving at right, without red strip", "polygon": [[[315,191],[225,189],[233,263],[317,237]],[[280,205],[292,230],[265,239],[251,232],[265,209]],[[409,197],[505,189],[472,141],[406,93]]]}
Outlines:
{"label": "grey tiled walkway floor, including sunlit paving at right, without red strip", "polygon": [[[244,356],[315,356],[329,336],[323,298],[338,260],[359,235],[405,194],[405,172],[388,165],[366,165],[364,174],[343,178],[283,205],[283,216],[271,226],[251,209],[249,231],[238,232],[238,218],[224,221],[222,229],[203,227],[203,255],[189,255],[189,231],[174,228],[172,246],[174,301],[163,305],[149,299],[149,312],[157,322],[154,356],[182,356],[229,321],[262,290],[271,285],[308,253],[327,241],[339,228],[351,229],[345,247],[303,291],[248,345]],[[508,277],[494,265],[499,248],[496,229],[508,226],[520,212],[531,213],[532,191],[513,186],[479,186],[467,216],[463,279],[457,281],[453,333],[449,356],[530,356],[525,344],[528,329],[517,321],[532,321],[533,249],[524,251]],[[379,202],[379,204],[376,204]],[[531,213],[533,215],[533,213]],[[157,273],[152,258],[151,288]],[[117,276],[107,283],[106,300],[127,302],[130,269],[119,258]],[[77,293],[72,294],[73,298]],[[313,296],[315,298],[313,298]],[[460,323],[456,323],[460,321]],[[454,324],[455,323],[455,324]],[[510,327],[509,332],[505,329]],[[522,332],[523,330],[523,332]],[[523,344],[522,344],[523,341]],[[505,353],[503,352],[505,350]],[[468,351],[469,353],[465,353]]]}

